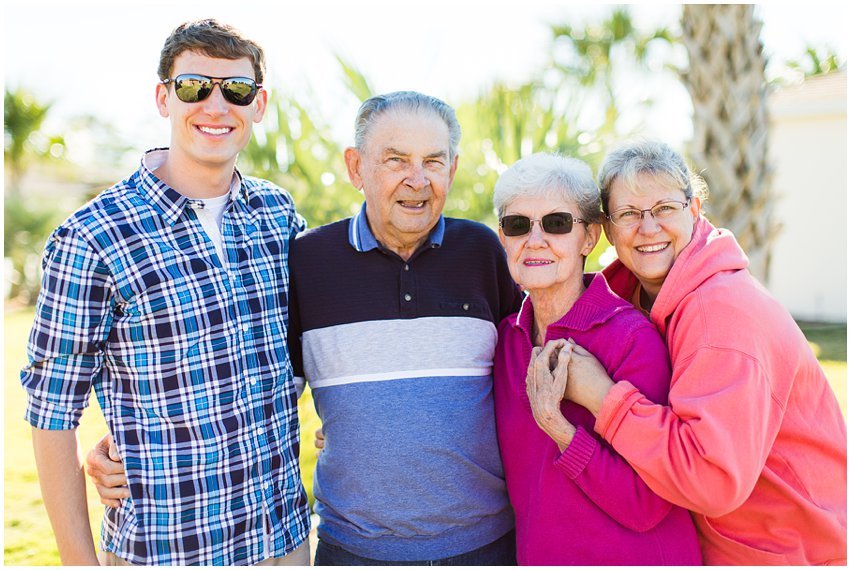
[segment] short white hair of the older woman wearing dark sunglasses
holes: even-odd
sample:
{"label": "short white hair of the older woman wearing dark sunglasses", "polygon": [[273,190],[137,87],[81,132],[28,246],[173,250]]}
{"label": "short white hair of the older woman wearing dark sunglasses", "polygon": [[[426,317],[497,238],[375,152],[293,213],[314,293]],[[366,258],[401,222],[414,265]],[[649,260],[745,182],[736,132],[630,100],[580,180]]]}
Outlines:
{"label": "short white hair of the older woman wearing dark sunglasses", "polygon": [[600,191],[591,167],[576,158],[538,152],[521,158],[500,175],[493,189],[499,217],[521,196],[547,196],[569,200],[579,207],[579,217],[600,222]]}

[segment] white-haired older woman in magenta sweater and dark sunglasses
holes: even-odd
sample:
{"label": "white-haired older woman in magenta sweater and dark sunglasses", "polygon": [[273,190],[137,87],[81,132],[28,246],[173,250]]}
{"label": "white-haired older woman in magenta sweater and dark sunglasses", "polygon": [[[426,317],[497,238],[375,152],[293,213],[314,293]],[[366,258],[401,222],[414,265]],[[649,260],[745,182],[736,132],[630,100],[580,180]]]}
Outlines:
{"label": "white-haired older woman in magenta sweater and dark sunglasses", "polygon": [[500,177],[494,204],[511,274],[528,292],[520,312],[500,324],[494,357],[497,434],[518,562],[700,564],[688,512],[642,481],[594,432],[590,412],[562,401],[567,338],[654,402],[667,403],[670,383],[668,356],[652,324],[602,275],[583,273],[601,232],[590,168],[554,155],[526,157]]}

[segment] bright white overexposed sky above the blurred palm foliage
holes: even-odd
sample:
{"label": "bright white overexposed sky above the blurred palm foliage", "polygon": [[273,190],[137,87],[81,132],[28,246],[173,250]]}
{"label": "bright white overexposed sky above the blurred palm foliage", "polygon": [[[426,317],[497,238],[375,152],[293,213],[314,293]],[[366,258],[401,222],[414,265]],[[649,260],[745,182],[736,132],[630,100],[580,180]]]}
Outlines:
{"label": "bright white overexposed sky above the blurred palm foliage", "polygon": [[[266,85],[325,117],[341,144],[351,142],[359,101],[346,89],[336,56],[357,68],[376,92],[413,89],[453,106],[496,80],[520,83],[553,56],[552,25],[599,21],[610,5],[590,2],[5,2],[5,80],[52,101],[45,132],[94,115],[134,150],[167,142],[154,107],[159,50],[178,23],[215,17],[266,50]],[[636,27],[676,27],[680,6],[631,6]],[[807,46],[847,52],[846,8],[768,3],[758,7],[769,75]],[[651,68],[660,64],[650,62]],[[657,69],[658,71],[658,69]],[[673,77],[618,78],[626,123],[674,144],[691,133],[690,104]],[[120,86],[120,91],[117,87]],[[647,108],[642,102],[655,99]],[[463,125],[462,125],[463,126]],[[77,133],[79,138],[84,133]],[[91,145],[69,145],[79,160]],[[136,157],[127,157],[135,165]]]}

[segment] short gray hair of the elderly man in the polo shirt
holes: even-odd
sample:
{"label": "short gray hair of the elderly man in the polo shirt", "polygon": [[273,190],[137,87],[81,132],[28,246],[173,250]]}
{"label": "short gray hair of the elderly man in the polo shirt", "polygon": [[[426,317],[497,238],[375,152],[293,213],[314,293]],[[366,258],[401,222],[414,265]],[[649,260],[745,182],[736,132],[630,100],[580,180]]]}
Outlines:
{"label": "short gray hair of the elderly man in the polo shirt", "polygon": [[384,95],[376,95],[364,101],[355,119],[355,147],[363,150],[369,131],[375,121],[391,109],[405,111],[428,110],[443,119],[449,128],[449,159],[458,154],[458,144],[461,142],[461,125],[455,116],[455,109],[431,95],[423,95],[416,91],[395,91]]}

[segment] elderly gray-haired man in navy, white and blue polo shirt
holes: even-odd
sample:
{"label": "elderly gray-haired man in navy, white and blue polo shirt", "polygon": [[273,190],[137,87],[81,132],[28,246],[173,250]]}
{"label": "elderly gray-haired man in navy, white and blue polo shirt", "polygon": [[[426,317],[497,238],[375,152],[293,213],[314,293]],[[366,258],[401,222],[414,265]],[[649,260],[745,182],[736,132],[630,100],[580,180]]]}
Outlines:
{"label": "elderly gray-haired man in navy, white and blue polo shirt", "polygon": [[491,369],[520,293],[496,235],[441,214],[460,137],[434,97],[368,99],[345,153],[363,207],[293,244],[290,354],[326,436],[317,565],[515,564]]}

